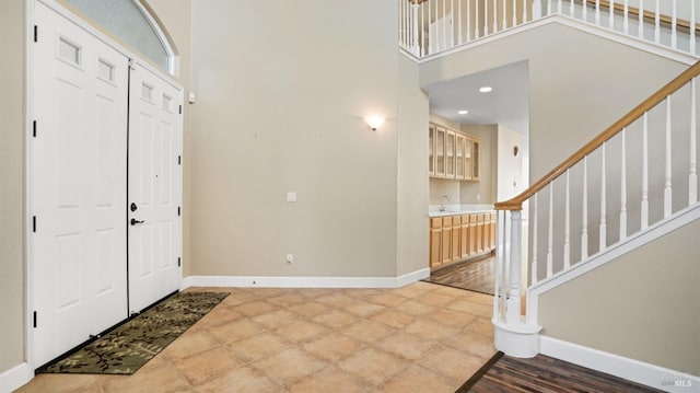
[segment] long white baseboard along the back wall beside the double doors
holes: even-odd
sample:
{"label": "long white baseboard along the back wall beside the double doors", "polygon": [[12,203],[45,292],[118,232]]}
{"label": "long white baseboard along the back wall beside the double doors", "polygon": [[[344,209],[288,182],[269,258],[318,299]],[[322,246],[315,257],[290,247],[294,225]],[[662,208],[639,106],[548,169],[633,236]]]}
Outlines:
{"label": "long white baseboard along the back wall beside the double doors", "polygon": [[430,268],[398,277],[276,277],[276,276],[188,276],[180,289],[189,287],[258,288],[399,288],[430,277]]}

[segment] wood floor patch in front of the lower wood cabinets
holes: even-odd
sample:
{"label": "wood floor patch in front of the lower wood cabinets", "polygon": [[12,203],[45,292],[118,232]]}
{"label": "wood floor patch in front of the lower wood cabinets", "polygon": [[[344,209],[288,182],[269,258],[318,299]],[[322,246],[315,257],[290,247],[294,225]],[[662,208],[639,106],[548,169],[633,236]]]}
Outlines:
{"label": "wood floor patch in front of the lower wood cabinets", "polygon": [[475,292],[493,294],[495,282],[495,257],[459,262],[430,274],[424,281]]}

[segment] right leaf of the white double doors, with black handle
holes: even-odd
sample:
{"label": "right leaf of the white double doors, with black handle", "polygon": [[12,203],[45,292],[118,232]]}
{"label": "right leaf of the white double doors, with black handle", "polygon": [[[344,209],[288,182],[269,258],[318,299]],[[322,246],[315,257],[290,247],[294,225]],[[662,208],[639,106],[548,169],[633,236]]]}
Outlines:
{"label": "right leaf of the white double doors, with black handle", "polygon": [[129,92],[129,310],[179,288],[183,92],[135,62]]}

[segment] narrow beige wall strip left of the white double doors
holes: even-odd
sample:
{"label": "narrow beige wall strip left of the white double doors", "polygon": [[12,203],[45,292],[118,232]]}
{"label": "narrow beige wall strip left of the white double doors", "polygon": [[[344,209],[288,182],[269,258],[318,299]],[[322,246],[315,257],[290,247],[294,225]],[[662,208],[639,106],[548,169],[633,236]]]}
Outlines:
{"label": "narrow beige wall strip left of the white double doors", "polygon": [[24,357],[24,2],[0,12],[0,373]]}

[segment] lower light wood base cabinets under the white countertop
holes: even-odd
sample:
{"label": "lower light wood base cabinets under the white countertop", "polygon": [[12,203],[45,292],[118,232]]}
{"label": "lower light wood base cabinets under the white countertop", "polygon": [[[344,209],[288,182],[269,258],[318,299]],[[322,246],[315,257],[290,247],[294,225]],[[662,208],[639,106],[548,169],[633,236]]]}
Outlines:
{"label": "lower light wood base cabinets under the white countertop", "polygon": [[495,250],[495,213],[430,219],[430,267],[438,268]]}

